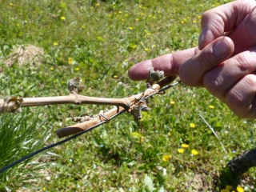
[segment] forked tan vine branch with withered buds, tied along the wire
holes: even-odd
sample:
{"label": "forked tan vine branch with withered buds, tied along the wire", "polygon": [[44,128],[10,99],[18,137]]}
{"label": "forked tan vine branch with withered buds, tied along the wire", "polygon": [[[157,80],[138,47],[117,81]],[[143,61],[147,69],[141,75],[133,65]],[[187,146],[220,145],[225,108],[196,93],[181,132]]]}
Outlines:
{"label": "forked tan vine branch with withered buds, tied along the wire", "polygon": [[[70,134],[78,133],[82,130],[87,130],[91,126],[97,125],[102,121],[109,121],[110,118],[114,115],[127,110],[130,114],[134,115],[135,121],[138,121],[141,118],[142,110],[149,110],[146,106],[147,98],[152,94],[159,94],[159,90],[168,85],[170,82],[173,82],[176,78],[167,77],[162,81],[153,84],[155,81],[158,81],[163,76],[162,71],[154,71],[154,69],[149,70],[149,76],[147,78],[148,88],[142,93],[134,94],[126,98],[97,98],[97,97],[88,97],[81,94],[78,94],[85,86],[82,86],[81,78],[73,78],[69,82],[70,94],[66,96],[55,96],[55,97],[44,97],[44,98],[7,98],[0,99],[0,114],[1,113],[16,113],[21,110],[22,107],[26,106],[48,106],[48,105],[58,105],[58,104],[96,104],[96,105],[106,105],[114,106],[111,110],[106,111],[105,113],[100,113],[97,115],[86,115],[84,117],[78,117],[76,119],[79,122],[73,126],[68,126],[57,130],[59,138],[66,137]],[[77,122],[75,120],[75,122]]]}

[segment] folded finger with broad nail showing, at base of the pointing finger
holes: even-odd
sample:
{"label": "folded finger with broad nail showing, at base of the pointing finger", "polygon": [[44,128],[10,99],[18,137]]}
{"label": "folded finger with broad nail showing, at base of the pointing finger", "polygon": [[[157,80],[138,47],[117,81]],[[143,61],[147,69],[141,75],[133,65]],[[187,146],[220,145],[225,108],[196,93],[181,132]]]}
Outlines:
{"label": "folded finger with broad nail showing, at base of the pointing finger", "polygon": [[233,51],[234,43],[228,37],[211,42],[180,66],[179,76],[182,82],[188,86],[203,86],[204,75],[229,58]]}

